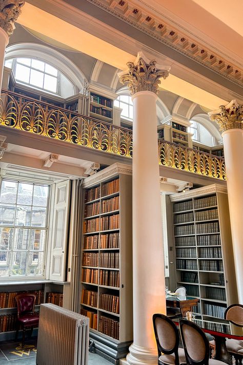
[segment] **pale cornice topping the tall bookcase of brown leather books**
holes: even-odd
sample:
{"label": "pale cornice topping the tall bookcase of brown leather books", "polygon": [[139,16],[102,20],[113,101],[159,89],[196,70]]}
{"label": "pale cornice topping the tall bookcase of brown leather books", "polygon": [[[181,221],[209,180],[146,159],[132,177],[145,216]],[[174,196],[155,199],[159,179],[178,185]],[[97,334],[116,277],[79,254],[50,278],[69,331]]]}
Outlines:
{"label": "pale cornice topping the tall bookcase of brown leather books", "polygon": [[85,178],[82,186],[84,188],[90,187],[118,174],[132,175],[132,166],[115,163],[111,166],[108,166],[104,170],[101,170],[96,174]]}

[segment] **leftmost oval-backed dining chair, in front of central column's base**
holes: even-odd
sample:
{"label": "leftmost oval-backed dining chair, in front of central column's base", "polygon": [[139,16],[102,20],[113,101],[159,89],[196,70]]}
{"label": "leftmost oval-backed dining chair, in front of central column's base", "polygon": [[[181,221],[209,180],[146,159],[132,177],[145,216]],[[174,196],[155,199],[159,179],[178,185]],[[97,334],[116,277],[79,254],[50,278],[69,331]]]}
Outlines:
{"label": "leftmost oval-backed dining chair, in front of central column's base", "polygon": [[185,352],[179,349],[179,331],[175,323],[164,314],[153,315],[154,334],[158,350],[158,365],[185,363]]}

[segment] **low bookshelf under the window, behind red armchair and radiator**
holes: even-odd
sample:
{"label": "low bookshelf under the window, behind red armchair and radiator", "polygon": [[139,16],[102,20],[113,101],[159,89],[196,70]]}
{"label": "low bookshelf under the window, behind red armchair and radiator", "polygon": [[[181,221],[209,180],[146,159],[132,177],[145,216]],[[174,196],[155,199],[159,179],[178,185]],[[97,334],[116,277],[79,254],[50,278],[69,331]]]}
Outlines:
{"label": "low bookshelf under the window, behind red armchair and radiator", "polygon": [[[39,311],[39,306],[42,303],[64,305],[67,308],[68,293],[65,287],[65,283],[54,283],[50,280],[2,282],[0,284],[0,340],[10,340],[15,337],[17,317],[16,295],[22,293],[36,294],[35,312]],[[65,294],[66,302],[64,300]]]}

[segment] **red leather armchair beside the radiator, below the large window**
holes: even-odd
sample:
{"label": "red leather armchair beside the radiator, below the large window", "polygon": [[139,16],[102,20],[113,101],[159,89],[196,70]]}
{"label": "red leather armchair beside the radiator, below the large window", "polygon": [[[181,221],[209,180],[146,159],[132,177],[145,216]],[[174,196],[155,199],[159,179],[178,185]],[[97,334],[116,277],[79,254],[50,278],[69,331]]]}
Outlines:
{"label": "red leather armchair beside the radiator, below the large window", "polygon": [[31,293],[19,294],[15,297],[17,302],[17,331],[16,339],[18,336],[19,328],[23,328],[22,347],[25,345],[25,333],[26,329],[31,329],[31,334],[34,327],[38,326],[39,314],[34,312],[34,305],[36,295]]}

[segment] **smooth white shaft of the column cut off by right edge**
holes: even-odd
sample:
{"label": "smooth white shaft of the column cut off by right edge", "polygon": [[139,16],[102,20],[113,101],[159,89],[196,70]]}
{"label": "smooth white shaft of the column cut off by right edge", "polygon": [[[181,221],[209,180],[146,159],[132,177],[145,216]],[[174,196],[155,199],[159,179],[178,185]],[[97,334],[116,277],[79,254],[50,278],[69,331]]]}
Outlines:
{"label": "smooth white shaft of the column cut off by right edge", "polygon": [[224,139],[230,222],[235,262],[238,300],[243,304],[243,130],[230,129],[222,133]]}

